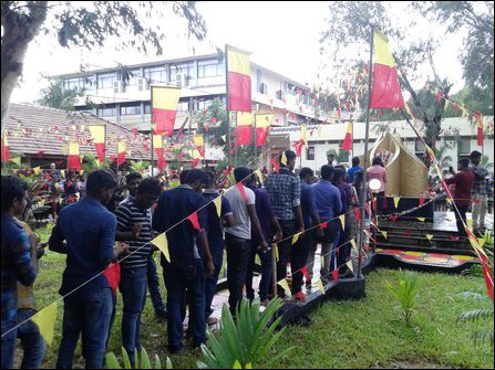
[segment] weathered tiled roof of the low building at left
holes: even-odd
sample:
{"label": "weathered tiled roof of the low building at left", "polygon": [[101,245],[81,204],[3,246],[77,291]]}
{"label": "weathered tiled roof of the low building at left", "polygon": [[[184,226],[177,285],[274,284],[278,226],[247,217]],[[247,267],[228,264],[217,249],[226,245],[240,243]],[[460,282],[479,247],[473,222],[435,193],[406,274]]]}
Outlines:
{"label": "weathered tiled roof of the low building at left", "polygon": [[132,130],[87,113],[10,104],[2,130],[3,135],[7,134],[11,152],[62,157],[66,156],[68,141],[78,140],[81,155],[96,156],[87,128],[90,125],[106,126],[107,158],[116,156],[118,141],[125,140],[126,158],[151,159],[151,142],[147,136],[137,134],[134,137]]}

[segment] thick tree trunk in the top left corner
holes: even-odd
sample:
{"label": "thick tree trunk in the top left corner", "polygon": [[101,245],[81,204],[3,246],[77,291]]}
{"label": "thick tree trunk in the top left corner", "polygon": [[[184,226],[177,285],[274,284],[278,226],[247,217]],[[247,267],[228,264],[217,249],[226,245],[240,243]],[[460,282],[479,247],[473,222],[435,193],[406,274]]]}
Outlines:
{"label": "thick tree trunk in the top left corner", "polygon": [[24,7],[25,13],[12,10],[17,2],[2,1],[2,50],[1,50],[1,123],[7,117],[10,96],[22,74],[28,45],[40,31],[47,19],[48,1],[32,1]]}

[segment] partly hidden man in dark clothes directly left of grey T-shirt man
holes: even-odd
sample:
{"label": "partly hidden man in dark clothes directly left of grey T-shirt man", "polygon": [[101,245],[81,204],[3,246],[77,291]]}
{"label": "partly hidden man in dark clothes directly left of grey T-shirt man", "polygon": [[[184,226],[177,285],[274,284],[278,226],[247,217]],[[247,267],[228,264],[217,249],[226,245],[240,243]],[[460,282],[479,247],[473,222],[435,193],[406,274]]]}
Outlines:
{"label": "partly hidden man in dark clothes directly left of grey T-shirt man", "polygon": [[[205,308],[206,308],[206,318],[208,325],[216,324],[215,318],[210,317],[213,314],[212,303],[215,293],[217,292],[217,282],[218,275],[221,269],[221,264],[224,263],[224,230],[223,228],[230,228],[234,225],[234,216],[230,211],[230,204],[227,199],[218,193],[215,190],[215,173],[208,173],[208,187],[203,192],[203,197],[205,197],[205,201],[209,202],[207,207],[208,212],[208,245],[209,252],[212,253],[213,263],[215,265],[215,273],[206,278],[205,283]],[[218,218],[217,208],[213,203],[213,200],[221,197],[221,213],[220,218]]]}

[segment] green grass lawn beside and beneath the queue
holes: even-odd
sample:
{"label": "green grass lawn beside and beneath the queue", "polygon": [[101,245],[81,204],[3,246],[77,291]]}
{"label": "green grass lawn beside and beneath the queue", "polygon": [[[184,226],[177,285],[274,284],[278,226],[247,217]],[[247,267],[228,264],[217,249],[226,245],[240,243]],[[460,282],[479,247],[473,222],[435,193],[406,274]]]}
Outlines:
{"label": "green grass lawn beside and beneath the queue", "polygon": [[[48,232],[39,230],[42,240]],[[43,308],[60,298],[58,289],[65,265],[63,255],[48,252],[41,260],[35,282],[38,307]],[[158,268],[161,273],[161,268]],[[367,297],[361,300],[328,302],[311,314],[309,327],[287,327],[274,351],[293,347],[277,368],[494,368],[493,348],[475,348],[471,331],[476,326],[456,323],[457,316],[474,308],[487,308],[491,300],[472,300],[457,295],[462,292],[485,294],[482,277],[446,274],[419,275],[420,293],[411,326],[403,321],[396,303],[385,286],[398,282],[399,272],[378,269],[367,275]],[[162,292],[165,288],[162,284]],[[485,294],[486,295],[486,294]],[[55,339],[49,348],[44,367],[54,368],[61,339],[60,306]],[[492,306],[493,307],[493,306]],[[110,350],[120,355],[122,300],[118,300]],[[157,321],[148,299],[143,316],[142,341],[147,352],[159,356],[164,363],[166,323]],[[478,326],[493,323],[479,321]],[[187,350],[172,357],[174,368],[196,368],[199,350]],[[258,368],[264,364],[259,363]],[[84,368],[79,346],[74,368]]]}

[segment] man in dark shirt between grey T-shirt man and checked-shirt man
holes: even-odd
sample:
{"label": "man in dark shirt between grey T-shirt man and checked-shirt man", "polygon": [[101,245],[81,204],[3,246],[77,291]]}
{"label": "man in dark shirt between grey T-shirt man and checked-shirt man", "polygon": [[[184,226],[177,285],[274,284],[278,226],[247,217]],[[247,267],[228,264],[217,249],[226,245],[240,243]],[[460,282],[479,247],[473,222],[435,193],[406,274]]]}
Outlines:
{"label": "man in dark shirt between grey T-shirt man and checked-shirt man", "polygon": [[[262,235],[270,244],[270,235],[275,232],[275,242],[282,239],[282,230],[278,224],[277,218],[274,214],[270,205],[270,197],[267,191],[262,188],[256,186],[256,176],[251,173],[247,187],[255,192],[256,198],[256,215],[259,220],[259,225],[261,226]],[[270,228],[271,226],[271,228]],[[246,294],[249,300],[255,299],[255,290],[252,289],[252,275],[255,267],[256,254],[258,254],[261,262],[261,281],[259,282],[259,300],[261,305],[268,305],[268,292],[270,290],[271,283],[271,253],[266,253],[259,250],[261,241],[254,232],[251,228],[251,256],[248,264],[248,272],[246,277]]]}

